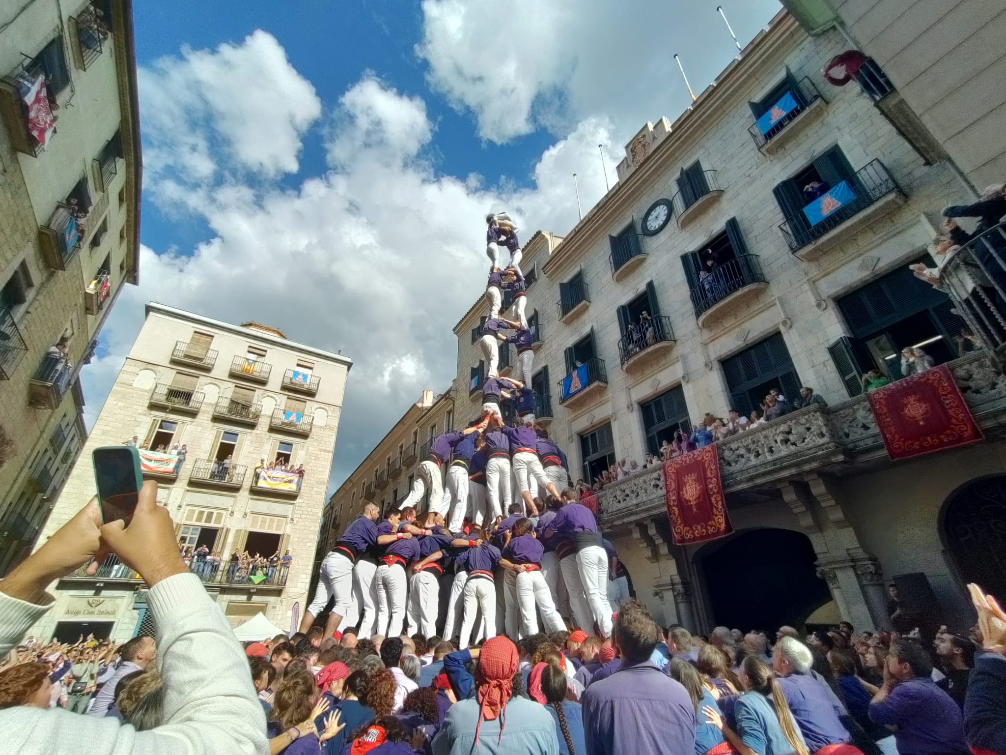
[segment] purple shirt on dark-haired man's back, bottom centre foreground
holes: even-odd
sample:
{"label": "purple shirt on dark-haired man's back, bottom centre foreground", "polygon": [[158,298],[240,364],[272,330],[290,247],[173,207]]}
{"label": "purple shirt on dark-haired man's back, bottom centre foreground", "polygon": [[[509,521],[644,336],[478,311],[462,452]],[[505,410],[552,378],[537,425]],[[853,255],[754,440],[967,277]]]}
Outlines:
{"label": "purple shirt on dark-haired man's back, bottom centre foreground", "polygon": [[586,755],[695,752],[691,698],[649,661],[621,667],[606,680],[595,674],[582,704]]}

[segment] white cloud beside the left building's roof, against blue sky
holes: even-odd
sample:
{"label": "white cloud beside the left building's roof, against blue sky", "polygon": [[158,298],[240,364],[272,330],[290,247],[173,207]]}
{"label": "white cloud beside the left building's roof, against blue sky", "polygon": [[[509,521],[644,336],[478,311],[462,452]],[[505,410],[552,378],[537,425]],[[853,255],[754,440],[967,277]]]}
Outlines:
{"label": "white cloud beside the left building's roof, against blue sky", "polygon": [[[214,51],[184,48],[139,71],[148,170],[209,179],[214,137],[236,166],[276,176],[298,169],[301,136],[321,116],[310,82],[276,38],[258,30]],[[211,127],[211,129],[209,128]],[[145,145],[146,146],[146,145]]]}

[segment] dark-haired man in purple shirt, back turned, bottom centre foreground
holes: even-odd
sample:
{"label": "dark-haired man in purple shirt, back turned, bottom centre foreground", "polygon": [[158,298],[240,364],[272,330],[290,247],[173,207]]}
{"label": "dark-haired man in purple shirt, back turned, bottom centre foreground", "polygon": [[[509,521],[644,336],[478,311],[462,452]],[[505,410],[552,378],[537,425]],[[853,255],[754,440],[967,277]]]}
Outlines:
{"label": "dark-haired man in purple shirt, back turned, bottom centre foreground", "polygon": [[687,691],[650,662],[660,628],[646,607],[626,601],[615,637],[622,665],[583,693],[586,755],[695,752],[695,709]]}

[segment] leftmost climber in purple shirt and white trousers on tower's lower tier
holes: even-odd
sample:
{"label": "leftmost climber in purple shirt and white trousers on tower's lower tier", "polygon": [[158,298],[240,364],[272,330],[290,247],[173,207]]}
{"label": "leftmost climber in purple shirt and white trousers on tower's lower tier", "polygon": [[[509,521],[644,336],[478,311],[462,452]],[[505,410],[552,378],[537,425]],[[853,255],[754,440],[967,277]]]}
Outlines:
{"label": "leftmost climber in purple shirt and white trousers on tower's lower tier", "polygon": [[301,619],[302,632],[307,633],[314,624],[315,616],[324,610],[325,604],[332,596],[335,597],[335,605],[328,621],[325,622],[325,636],[331,636],[339,628],[342,618],[349,614],[353,599],[353,576],[356,574],[358,582],[366,579],[366,570],[362,573],[357,572],[355,565],[360,557],[377,543],[377,525],[374,522],[380,515],[379,512],[380,509],[375,503],[364,505],[362,514],[346,526],[335,548],[321,563],[314,600]]}

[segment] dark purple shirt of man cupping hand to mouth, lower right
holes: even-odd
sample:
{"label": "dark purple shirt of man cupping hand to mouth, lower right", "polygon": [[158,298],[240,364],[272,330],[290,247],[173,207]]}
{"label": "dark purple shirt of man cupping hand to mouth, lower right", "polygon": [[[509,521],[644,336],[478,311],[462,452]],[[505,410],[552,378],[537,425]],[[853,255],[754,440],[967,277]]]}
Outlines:
{"label": "dark purple shirt of man cupping hand to mouth, lower right", "polygon": [[871,721],[897,727],[898,755],[969,752],[961,709],[932,678],[898,683],[886,699],[870,703],[869,713]]}

